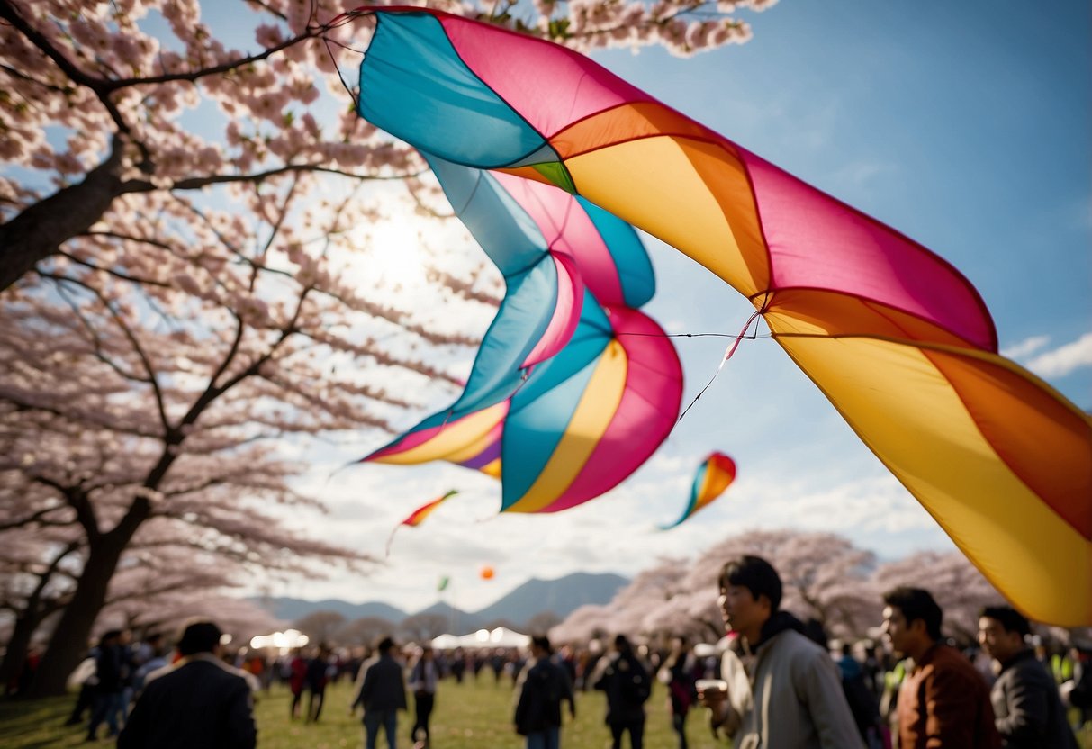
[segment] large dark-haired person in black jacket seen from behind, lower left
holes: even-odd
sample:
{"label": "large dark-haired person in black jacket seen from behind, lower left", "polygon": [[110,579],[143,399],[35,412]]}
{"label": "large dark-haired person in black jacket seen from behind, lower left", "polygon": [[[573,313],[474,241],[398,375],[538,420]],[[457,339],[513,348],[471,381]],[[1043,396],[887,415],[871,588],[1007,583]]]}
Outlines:
{"label": "large dark-haired person in black jacket seen from behind, lower left", "polygon": [[212,621],[186,627],[181,661],[149,674],[118,749],[253,749],[251,687],[244,671],[221,661],[221,637]]}

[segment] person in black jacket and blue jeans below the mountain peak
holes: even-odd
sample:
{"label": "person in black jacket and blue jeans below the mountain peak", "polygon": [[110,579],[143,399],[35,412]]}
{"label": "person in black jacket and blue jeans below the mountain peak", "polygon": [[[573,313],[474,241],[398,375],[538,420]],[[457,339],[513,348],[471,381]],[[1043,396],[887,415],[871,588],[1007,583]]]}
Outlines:
{"label": "person in black jacket and blue jeans below the mountain peak", "polygon": [[561,702],[577,718],[572,681],[565,668],[550,658],[549,639],[531,638],[531,659],[515,682],[515,733],[526,738],[526,749],[558,749],[561,746]]}

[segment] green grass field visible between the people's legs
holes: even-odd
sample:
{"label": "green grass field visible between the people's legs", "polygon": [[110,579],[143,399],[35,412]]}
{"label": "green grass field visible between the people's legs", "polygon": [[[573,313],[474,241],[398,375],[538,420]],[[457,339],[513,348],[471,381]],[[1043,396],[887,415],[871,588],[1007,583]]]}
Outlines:
{"label": "green grass field visible between the people's legs", "polygon": [[[332,686],[327,691],[327,704],[317,724],[288,720],[290,694],[285,687],[274,686],[262,694],[256,705],[258,746],[262,749],[340,749],[361,747],[364,732],[359,713],[348,715],[351,686]],[[646,749],[676,749],[678,746],[665,706],[663,686],[648,703],[645,726]],[[0,747],[4,749],[57,749],[88,746],[83,742],[84,726],[62,724],[75,698],[55,698],[34,702],[0,702]],[[306,693],[304,697],[306,705]],[[511,725],[512,690],[509,681],[495,686],[492,678],[483,676],[462,685],[448,680],[440,683],[436,711],[432,713],[432,749],[522,749],[523,741]],[[603,724],[604,700],[598,692],[577,696],[577,721],[566,723],[561,746],[566,749],[604,749],[609,746],[609,733]],[[412,708],[399,716],[399,749],[410,749]],[[568,721],[568,716],[566,716]],[[100,729],[106,733],[105,726]],[[687,736],[690,749],[725,749],[723,739],[714,740],[701,711],[691,713]],[[105,739],[99,746],[110,746]],[[94,745],[90,745],[94,746]],[[385,744],[380,739],[380,746]],[[628,748],[628,744],[625,745]],[[1092,749],[1092,730],[1085,728],[1081,746]],[[199,749],[199,748],[195,748]]]}

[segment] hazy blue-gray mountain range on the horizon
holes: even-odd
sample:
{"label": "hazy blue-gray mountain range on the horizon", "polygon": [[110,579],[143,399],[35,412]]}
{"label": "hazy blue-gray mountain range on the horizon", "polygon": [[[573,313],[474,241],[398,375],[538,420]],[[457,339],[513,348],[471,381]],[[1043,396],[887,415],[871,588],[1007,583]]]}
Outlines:
{"label": "hazy blue-gray mountain range on the horizon", "polygon": [[[538,614],[550,613],[563,619],[585,604],[608,604],[628,583],[629,580],[626,578],[612,573],[577,572],[557,580],[532,578],[479,611],[461,611],[448,604],[437,603],[417,614],[442,616],[450,622],[449,628],[453,630],[453,634],[473,632],[499,619],[521,628]],[[284,621],[296,621],[314,611],[337,611],[349,621],[361,617],[378,617],[393,625],[400,623],[407,616],[405,611],[394,606],[378,602],[351,604],[337,598],[306,601],[287,597],[262,597],[251,601]]]}

